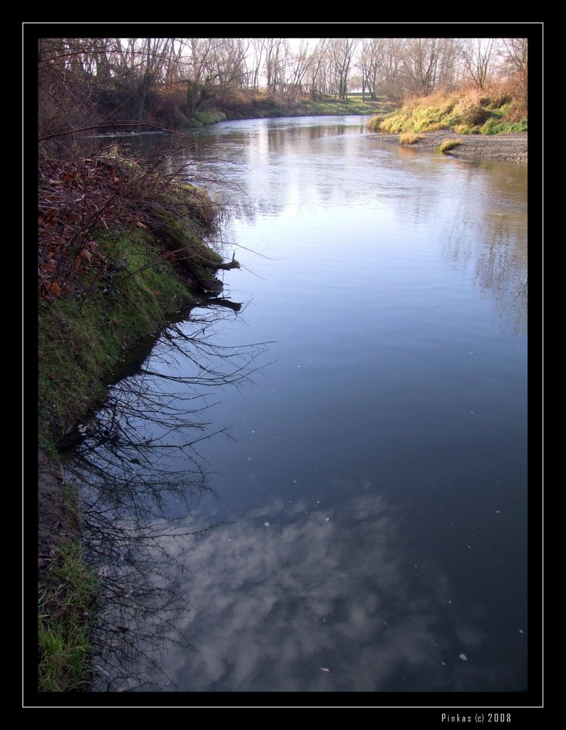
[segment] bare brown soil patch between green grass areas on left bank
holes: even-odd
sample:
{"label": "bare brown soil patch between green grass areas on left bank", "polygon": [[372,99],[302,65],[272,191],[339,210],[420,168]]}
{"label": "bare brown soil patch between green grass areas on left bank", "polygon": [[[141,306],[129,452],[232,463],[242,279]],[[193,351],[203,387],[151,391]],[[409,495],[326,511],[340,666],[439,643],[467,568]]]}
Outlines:
{"label": "bare brown soil patch between green grass areas on left bank", "polygon": [[60,467],[41,449],[37,466],[37,569],[42,583],[57,548],[69,539],[77,539],[80,527],[77,514],[66,503],[65,481]]}

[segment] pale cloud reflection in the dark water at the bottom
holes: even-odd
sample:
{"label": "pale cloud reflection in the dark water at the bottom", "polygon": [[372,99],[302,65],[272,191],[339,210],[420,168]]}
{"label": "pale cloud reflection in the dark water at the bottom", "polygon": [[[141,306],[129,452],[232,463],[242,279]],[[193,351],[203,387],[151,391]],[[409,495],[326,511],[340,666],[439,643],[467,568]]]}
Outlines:
{"label": "pale cloud reflection in the dark water at the bottom", "polygon": [[410,565],[402,515],[365,490],[340,509],[277,499],[196,542],[183,626],[195,651],[169,657],[169,690],[503,688],[500,668],[474,664],[473,616],[435,566]]}

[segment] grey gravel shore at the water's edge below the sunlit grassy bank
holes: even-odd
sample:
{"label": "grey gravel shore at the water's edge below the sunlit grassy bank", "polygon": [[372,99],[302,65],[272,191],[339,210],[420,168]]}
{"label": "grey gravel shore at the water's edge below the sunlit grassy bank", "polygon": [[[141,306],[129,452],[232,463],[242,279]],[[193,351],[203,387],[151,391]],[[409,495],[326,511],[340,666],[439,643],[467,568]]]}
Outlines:
{"label": "grey gravel shore at the water's edge below the sunlit grassy bank", "polygon": [[[527,163],[527,132],[513,134],[456,134],[450,129],[435,132],[419,132],[420,139],[410,145],[413,150],[437,150],[445,139],[457,139],[458,147],[445,152],[453,157],[474,157],[502,162]],[[375,134],[377,142],[399,145],[398,134]]]}

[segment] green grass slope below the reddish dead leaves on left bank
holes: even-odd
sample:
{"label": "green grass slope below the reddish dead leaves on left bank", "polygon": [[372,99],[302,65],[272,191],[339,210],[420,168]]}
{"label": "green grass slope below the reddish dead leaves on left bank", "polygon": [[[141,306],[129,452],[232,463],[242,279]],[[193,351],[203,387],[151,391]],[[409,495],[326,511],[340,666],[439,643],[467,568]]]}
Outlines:
{"label": "green grass slope below the reddish dead leaves on left bank", "polygon": [[[191,301],[147,231],[108,236],[99,250],[115,265],[111,279],[97,284],[87,277],[85,296],[39,299],[39,445],[50,453],[53,442],[104,396],[123,351]],[[206,251],[203,246],[202,255]]]}

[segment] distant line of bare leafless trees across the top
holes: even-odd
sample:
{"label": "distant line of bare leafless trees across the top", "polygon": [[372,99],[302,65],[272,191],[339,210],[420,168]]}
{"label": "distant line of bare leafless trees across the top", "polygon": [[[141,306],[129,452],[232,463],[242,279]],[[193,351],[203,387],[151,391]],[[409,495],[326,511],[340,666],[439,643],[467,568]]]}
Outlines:
{"label": "distant line of bare leafless trees across the top", "polygon": [[44,38],[38,50],[40,137],[88,126],[94,109],[175,123],[242,94],[402,100],[509,76],[527,88],[526,38]]}

